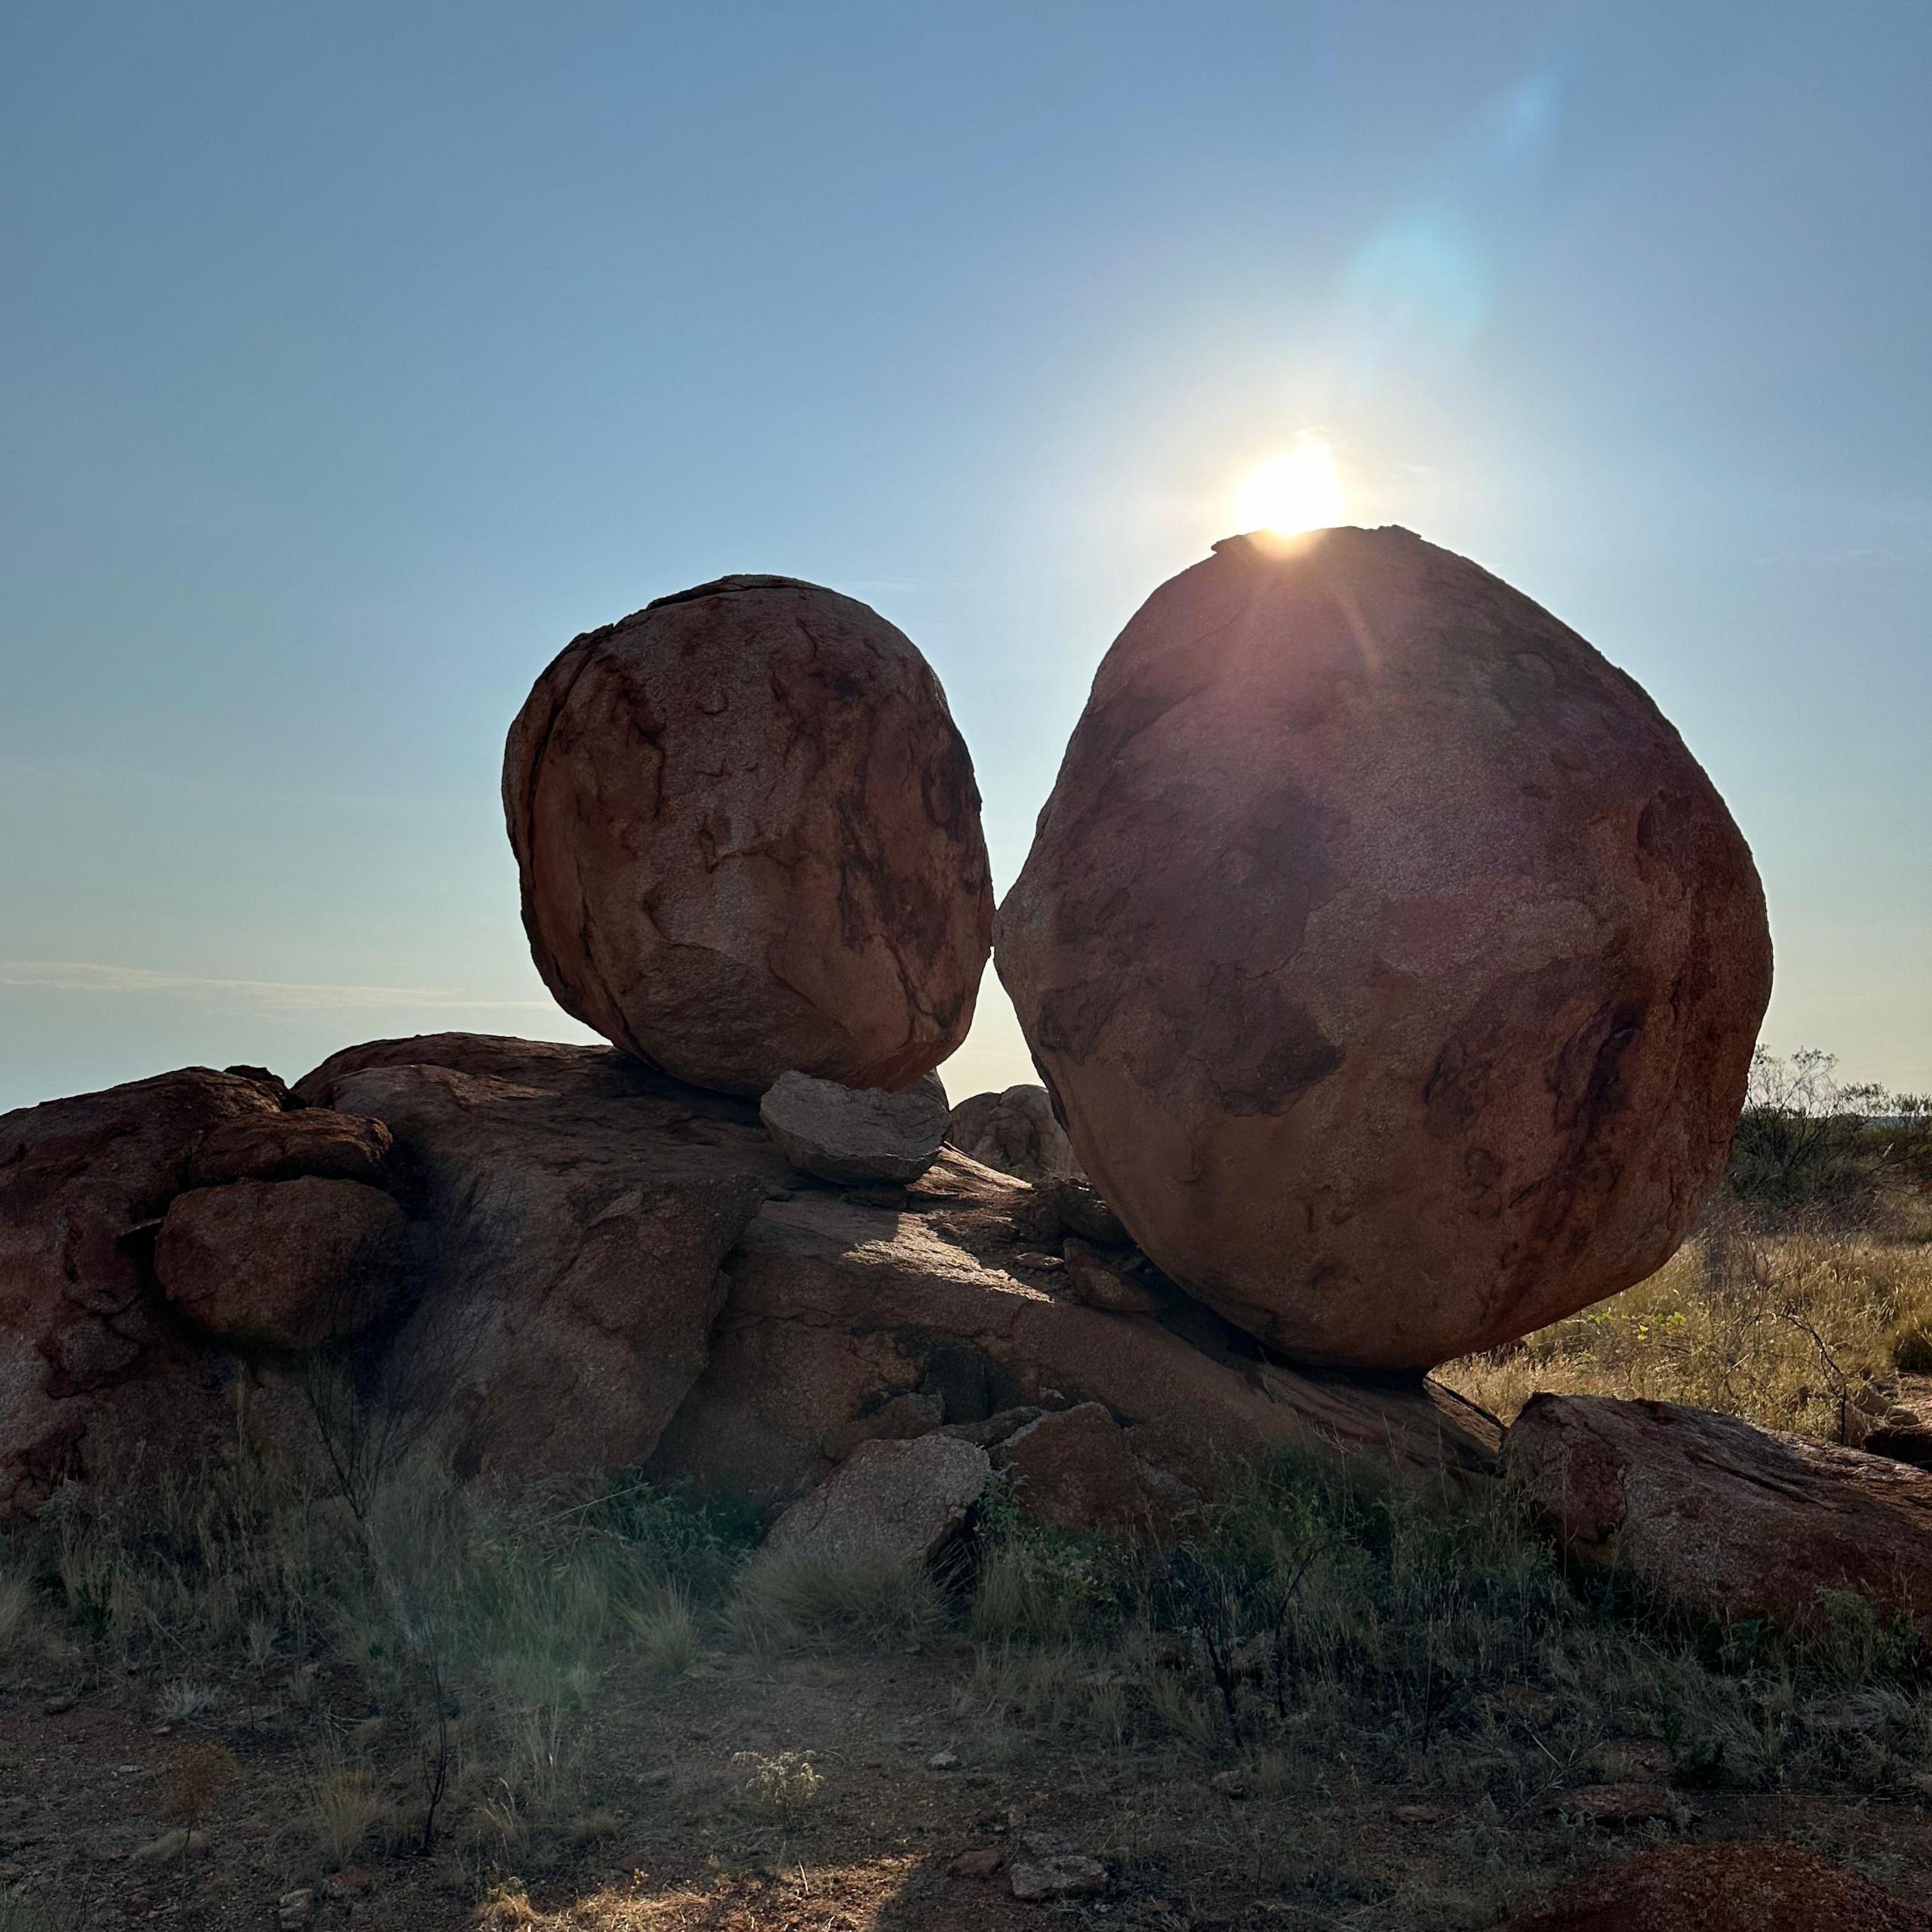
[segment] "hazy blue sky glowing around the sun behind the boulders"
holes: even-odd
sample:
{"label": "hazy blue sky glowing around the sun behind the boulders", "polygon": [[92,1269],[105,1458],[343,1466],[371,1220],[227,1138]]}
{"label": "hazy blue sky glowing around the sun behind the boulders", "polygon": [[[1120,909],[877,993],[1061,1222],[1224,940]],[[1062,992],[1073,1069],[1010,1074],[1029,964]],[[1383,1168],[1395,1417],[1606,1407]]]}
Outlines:
{"label": "hazy blue sky glowing around the sun behind the boulders", "polygon": [[1308,435],[1679,724],[1768,1039],[1932,1088],[1928,93],[1926,0],[10,0],[0,1107],[583,1037],[502,734],[724,572],[925,649],[1005,887]]}

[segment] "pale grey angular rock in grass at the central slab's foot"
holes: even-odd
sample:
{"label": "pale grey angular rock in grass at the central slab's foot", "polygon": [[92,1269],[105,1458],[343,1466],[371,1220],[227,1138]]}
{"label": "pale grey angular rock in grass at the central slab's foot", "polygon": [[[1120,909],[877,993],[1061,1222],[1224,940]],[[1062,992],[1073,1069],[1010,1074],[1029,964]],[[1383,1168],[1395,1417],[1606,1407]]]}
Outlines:
{"label": "pale grey angular rock in grass at the central slab's foot", "polygon": [[951,1435],[869,1441],[792,1503],[765,1548],[862,1567],[923,1563],[966,1520],[993,1466]]}

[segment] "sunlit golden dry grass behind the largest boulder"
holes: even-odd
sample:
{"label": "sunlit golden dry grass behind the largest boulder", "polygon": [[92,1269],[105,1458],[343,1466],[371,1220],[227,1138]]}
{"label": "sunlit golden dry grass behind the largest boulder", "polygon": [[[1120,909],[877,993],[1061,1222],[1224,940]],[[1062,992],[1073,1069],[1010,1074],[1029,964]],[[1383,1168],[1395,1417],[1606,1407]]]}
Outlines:
{"label": "sunlit golden dry grass behind the largest boulder", "polygon": [[1729,1209],[1638,1287],[1437,1374],[1503,1420],[1551,1389],[1690,1403],[1837,1439],[1861,1387],[1932,1372],[1932,1231],[1920,1217],[1776,1229]]}

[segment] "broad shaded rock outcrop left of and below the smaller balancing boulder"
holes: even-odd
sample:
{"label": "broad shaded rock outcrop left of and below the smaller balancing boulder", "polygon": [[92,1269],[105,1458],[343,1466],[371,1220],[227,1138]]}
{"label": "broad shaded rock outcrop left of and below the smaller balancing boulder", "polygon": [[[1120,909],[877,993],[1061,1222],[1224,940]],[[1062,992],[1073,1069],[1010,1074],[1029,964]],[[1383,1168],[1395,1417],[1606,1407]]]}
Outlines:
{"label": "broad shaded rock outcrop left of and below the smaller balancing boulder", "polygon": [[388,1366],[458,1470],[643,1461],[705,1366],[719,1264],[790,1173],[750,1109],[475,1034],[352,1047],[298,1092],[394,1134],[427,1283]]}

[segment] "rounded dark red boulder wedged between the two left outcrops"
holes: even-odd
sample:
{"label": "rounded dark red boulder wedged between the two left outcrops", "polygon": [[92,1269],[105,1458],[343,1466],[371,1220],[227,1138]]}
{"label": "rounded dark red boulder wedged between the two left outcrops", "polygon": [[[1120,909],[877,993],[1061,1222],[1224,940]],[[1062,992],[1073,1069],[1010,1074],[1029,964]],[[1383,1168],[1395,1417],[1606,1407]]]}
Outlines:
{"label": "rounded dark red boulder wedged between the two left outcrops", "polygon": [[404,1289],[410,1223],[361,1180],[230,1180],[176,1194],[155,1273],[197,1327],[265,1349],[355,1335]]}

